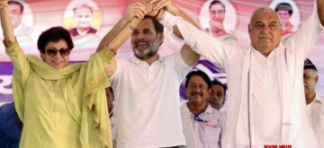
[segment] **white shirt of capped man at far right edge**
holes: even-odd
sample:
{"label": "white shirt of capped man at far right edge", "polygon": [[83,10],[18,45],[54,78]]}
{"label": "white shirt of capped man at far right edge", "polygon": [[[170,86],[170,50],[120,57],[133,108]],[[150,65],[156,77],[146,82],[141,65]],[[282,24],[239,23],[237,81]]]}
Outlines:
{"label": "white shirt of capped man at far right edge", "polygon": [[307,105],[307,113],[320,147],[324,147],[324,99],[316,95],[315,99]]}

